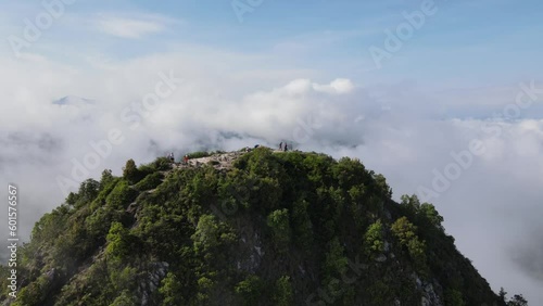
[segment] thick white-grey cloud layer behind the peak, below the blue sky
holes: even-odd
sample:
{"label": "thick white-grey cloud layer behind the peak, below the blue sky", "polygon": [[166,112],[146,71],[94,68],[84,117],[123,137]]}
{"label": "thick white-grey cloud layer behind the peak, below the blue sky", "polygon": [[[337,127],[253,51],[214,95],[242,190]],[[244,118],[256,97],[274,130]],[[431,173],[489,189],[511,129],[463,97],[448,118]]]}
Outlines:
{"label": "thick white-grey cloud layer behind the peak, below the blue sky", "polygon": [[[287,141],[359,157],[386,175],[399,199],[420,187],[432,190],[435,171],[446,176],[447,166],[458,164],[453,156],[477,140],[484,153],[471,154],[430,202],[494,290],[543,301],[543,94],[518,116],[498,117],[515,103],[517,85],[447,92],[408,82],[366,87],[228,63],[217,69],[185,54],[162,54],[81,71],[39,56],[0,60],[0,170],[4,186],[21,189],[21,234],[29,237],[34,222],[62,203],[59,177],[77,181],[74,165],[85,164],[96,148],[110,151],[97,153],[87,169],[98,178],[104,168],[118,175],[128,158],[147,163],[169,151],[181,156]],[[463,116],[476,100],[480,116]]]}

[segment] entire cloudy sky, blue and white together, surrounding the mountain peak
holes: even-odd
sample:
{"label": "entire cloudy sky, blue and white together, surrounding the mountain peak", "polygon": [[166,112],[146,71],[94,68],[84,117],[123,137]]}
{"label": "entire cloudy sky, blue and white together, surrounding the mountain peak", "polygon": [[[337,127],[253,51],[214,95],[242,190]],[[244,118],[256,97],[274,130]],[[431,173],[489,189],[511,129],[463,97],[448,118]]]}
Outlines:
{"label": "entire cloudy sky, blue and white together, surrounding the mountain peak", "polygon": [[[435,0],[433,14],[388,48],[387,33],[397,36],[404,12],[426,2],[263,0],[240,22],[231,0],[77,0],[16,54],[25,21],[47,10],[0,0],[0,183],[33,190],[22,232],[62,203],[53,178],[75,180],[73,161],[112,128],[126,141],[91,177],[118,174],[128,158],[291,139],[358,157],[387,177],[394,199],[430,186],[451,153],[481,140],[487,152],[431,202],[493,289],[543,301],[543,4]],[[371,48],[390,55],[380,68]],[[182,81],[130,130],[123,112],[161,73]],[[503,118],[530,85],[533,103]],[[302,126],[310,130],[296,139]]]}

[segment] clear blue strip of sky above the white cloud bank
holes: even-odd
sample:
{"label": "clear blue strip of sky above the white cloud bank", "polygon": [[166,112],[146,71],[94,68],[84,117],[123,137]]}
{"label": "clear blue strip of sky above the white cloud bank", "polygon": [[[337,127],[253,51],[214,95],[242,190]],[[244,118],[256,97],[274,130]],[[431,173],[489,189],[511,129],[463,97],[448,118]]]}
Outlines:
{"label": "clear blue strip of sky above the white cloud bank", "polygon": [[[42,8],[2,1],[4,28],[22,31],[23,20]],[[369,1],[368,1],[369,2]],[[541,74],[536,61],[543,30],[536,1],[435,0],[437,13],[375,69],[369,47],[382,48],[386,29],[422,1],[264,0],[240,22],[229,1],[76,1],[31,50],[72,61],[85,55],[127,60],[198,46],[290,67],[311,68],[363,82],[415,80],[460,86],[503,85]],[[104,35],[97,21],[132,24],[135,37]],[[4,21],[5,22],[5,21]],[[155,26],[154,29],[149,27]],[[137,33],[137,34],[136,34]],[[3,36],[5,31],[2,33]],[[105,33],[108,34],[108,31]],[[109,33],[111,34],[111,33]],[[50,46],[61,48],[49,48]],[[7,47],[5,44],[3,47]],[[54,49],[54,51],[52,50]],[[65,50],[59,54],[59,49]],[[61,51],[62,52],[62,51]]]}

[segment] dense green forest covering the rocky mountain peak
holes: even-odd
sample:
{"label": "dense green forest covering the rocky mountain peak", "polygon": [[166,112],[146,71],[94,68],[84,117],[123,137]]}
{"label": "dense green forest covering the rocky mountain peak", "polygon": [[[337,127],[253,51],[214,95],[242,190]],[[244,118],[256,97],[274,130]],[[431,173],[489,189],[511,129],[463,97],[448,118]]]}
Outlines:
{"label": "dense green forest covering the rocky mountain peak", "polygon": [[15,299],[2,267],[2,301],[527,305],[490,289],[432,204],[394,202],[358,160],[258,148],[216,164],[130,160],[84,181],[20,248]]}

